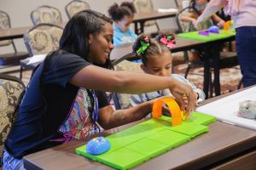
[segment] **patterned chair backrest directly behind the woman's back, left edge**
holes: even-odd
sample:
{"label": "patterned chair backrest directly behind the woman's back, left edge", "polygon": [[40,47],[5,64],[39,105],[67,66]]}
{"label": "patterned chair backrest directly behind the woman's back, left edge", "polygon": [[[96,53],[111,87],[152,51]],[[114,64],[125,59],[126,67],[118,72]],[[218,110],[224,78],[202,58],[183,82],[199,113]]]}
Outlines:
{"label": "patterned chair backrest directly behind the woman's back, left edge", "polygon": [[3,155],[3,143],[15,121],[25,85],[17,77],[0,74],[0,156]]}

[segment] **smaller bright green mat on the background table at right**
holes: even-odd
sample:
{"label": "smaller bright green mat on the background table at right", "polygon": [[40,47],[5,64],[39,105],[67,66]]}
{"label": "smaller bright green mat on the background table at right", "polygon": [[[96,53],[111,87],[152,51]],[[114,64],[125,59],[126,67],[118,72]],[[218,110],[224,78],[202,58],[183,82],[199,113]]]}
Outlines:
{"label": "smaller bright green mat on the background table at right", "polygon": [[230,29],[228,31],[220,30],[219,34],[210,33],[209,36],[202,36],[202,35],[198,34],[198,31],[190,31],[190,32],[184,32],[184,33],[177,34],[177,37],[184,37],[184,38],[189,38],[189,39],[210,42],[210,41],[224,39],[224,38],[235,36],[235,35],[236,35],[235,29]]}

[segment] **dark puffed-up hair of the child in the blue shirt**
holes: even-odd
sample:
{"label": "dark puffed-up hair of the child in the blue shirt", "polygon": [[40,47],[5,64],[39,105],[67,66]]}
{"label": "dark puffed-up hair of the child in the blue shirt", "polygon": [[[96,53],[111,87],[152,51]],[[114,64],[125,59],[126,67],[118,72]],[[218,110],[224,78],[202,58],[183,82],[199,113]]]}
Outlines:
{"label": "dark puffed-up hair of the child in the blue shirt", "polygon": [[108,8],[108,14],[114,21],[122,20],[125,16],[133,16],[134,13],[136,13],[136,9],[130,2],[121,3],[120,6],[114,3]]}

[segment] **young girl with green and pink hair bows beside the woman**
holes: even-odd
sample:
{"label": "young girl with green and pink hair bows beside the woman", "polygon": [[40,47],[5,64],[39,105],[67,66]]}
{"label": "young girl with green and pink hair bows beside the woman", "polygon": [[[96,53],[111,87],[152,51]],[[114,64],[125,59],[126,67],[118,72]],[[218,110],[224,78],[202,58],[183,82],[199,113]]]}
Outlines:
{"label": "young girl with green and pink hair bows beside the woman", "polygon": [[[198,101],[204,100],[206,95],[201,89],[196,88],[194,84],[184,77],[172,74],[172,55],[169,48],[172,48],[174,43],[174,35],[170,33],[159,34],[155,39],[150,38],[146,34],[142,34],[137,37],[137,41],[133,45],[133,50],[136,52],[137,56],[142,59],[143,64],[141,68],[145,73],[160,77],[173,77],[177,79],[177,81],[188,84],[193,88],[195,98],[198,99]],[[130,96],[131,105],[139,105],[165,95],[172,95],[169,89],[147,94],[133,94]]]}

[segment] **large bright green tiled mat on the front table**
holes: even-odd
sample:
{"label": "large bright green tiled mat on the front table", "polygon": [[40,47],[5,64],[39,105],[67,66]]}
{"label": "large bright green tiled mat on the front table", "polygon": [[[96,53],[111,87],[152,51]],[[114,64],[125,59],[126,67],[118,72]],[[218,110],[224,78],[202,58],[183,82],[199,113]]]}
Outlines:
{"label": "large bright green tiled mat on the front table", "polygon": [[102,162],[116,169],[129,169],[143,161],[159,156],[167,150],[188,142],[201,133],[208,131],[207,124],[216,118],[200,112],[193,112],[189,121],[172,127],[172,118],[161,116],[127,128],[107,137],[111,149],[102,155],[93,156],[86,152],[86,144],[75,151],[94,161]]}

